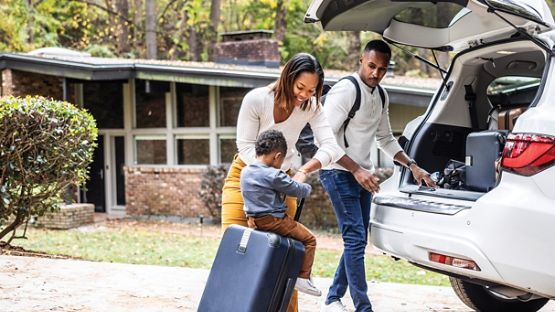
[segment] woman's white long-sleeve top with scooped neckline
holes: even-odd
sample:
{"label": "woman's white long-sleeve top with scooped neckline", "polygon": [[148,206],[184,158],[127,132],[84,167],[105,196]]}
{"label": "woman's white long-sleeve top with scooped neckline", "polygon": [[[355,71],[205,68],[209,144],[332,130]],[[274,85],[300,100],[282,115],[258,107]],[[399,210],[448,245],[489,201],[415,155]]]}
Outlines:
{"label": "woman's white long-sleeve top with scooped neckline", "polygon": [[[312,100],[316,101],[315,98]],[[239,110],[236,141],[239,157],[247,165],[254,163],[256,158],[254,144],[258,135],[266,130],[278,130],[283,133],[287,141],[288,151],[281,167],[283,171],[287,171],[291,168],[294,155],[297,154],[295,143],[307,123],[312,127],[314,137],[319,142],[320,148],[314,158],[320,161],[322,167],[336,162],[345,155],[335,141],[320,104],[310,105],[310,108],[304,111],[300,107],[295,107],[289,118],[275,123],[274,92],[270,87],[253,89],[245,95]]]}

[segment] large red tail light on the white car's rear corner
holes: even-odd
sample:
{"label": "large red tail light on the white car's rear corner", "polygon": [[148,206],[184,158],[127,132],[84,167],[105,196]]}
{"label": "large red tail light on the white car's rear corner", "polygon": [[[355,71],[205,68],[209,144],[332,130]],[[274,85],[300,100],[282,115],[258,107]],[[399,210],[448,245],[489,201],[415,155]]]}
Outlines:
{"label": "large red tail light on the white car's rear corner", "polygon": [[555,164],[555,138],[536,134],[509,134],[501,167],[531,176]]}

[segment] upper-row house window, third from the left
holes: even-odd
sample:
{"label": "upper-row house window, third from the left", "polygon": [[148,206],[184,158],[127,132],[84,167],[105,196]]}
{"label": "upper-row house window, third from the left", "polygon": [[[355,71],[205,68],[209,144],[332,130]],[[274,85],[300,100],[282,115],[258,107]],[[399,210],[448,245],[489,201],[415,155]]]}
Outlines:
{"label": "upper-row house window, third from the left", "polygon": [[178,127],[210,125],[208,86],[178,83],[176,96]]}

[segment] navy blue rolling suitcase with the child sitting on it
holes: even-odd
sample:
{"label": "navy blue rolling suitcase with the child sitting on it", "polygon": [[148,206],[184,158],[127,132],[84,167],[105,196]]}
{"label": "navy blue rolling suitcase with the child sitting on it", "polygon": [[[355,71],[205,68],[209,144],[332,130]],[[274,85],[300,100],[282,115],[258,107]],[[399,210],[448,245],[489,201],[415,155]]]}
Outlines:
{"label": "navy blue rolling suitcase with the child sitting on it", "polygon": [[303,257],[304,246],[297,240],[231,225],[220,242],[198,312],[287,311]]}

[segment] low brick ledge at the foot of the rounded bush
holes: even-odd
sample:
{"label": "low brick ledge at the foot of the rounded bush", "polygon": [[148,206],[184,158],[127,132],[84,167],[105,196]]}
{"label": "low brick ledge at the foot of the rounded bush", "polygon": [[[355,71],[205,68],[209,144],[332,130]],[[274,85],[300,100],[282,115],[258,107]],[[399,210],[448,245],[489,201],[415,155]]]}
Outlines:
{"label": "low brick ledge at the foot of the rounded bush", "polygon": [[36,219],[34,225],[49,229],[67,230],[94,222],[93,204],[62,205],[59,211]]}

